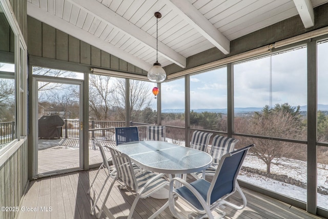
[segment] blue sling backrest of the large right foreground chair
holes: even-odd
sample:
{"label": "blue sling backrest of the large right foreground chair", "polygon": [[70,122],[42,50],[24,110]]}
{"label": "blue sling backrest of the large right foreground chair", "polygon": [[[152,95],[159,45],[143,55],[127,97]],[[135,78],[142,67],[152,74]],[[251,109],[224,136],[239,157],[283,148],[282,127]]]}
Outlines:
{"label": "blue sling backrest of the large right foreground chair", "polygon": [[219,166],[213,176],[211,186],[207,194],[208,204],[212,204],[224,195],[230,194],[236,190],[237,176],[244,158],[251,147],[254,147],[254,145],[249,145],[236,151],[224,154],[221,157]]}

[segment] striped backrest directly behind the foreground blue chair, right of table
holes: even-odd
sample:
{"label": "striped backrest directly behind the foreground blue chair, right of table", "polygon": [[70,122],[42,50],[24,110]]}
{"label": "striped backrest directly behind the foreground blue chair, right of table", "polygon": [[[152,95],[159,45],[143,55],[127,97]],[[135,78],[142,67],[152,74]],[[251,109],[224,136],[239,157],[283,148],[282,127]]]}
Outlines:
{"label": "striped backrest directly behind the foreground blue chair, right of table", "polygon": [[235,145],[239,140],[222,135],[215,135],[213,137],[210,154],[213,157],[213,163],[218,164],[220,158],[235,149]]}

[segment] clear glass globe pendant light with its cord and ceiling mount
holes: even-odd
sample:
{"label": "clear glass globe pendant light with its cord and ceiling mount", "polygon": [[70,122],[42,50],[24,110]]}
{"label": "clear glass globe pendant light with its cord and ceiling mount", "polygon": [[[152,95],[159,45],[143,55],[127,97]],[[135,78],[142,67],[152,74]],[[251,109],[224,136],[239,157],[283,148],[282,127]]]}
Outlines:
{"label": "clear glass globe pendant light with its cord and ceiling mount", "polygon": [[156,17],[156,62],[154,63],[153,67],[149,69],[147,76],[149,81],[160,83],[163,82],[166,78],[166,72],[158,62],[158,18],[161,18],[162,15],[159,12],[155,12],[154,15]]}

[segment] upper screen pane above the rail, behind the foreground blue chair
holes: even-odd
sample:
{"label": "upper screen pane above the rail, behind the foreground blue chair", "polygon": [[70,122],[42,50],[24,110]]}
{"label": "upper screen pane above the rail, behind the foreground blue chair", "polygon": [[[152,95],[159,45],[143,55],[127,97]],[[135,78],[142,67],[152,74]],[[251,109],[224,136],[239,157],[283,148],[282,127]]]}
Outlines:
{"label": "upper screen pane above the rail, behind the foreground blue chair", "polygon": [[306,48],[234,65],[235,131],[306,140]]}

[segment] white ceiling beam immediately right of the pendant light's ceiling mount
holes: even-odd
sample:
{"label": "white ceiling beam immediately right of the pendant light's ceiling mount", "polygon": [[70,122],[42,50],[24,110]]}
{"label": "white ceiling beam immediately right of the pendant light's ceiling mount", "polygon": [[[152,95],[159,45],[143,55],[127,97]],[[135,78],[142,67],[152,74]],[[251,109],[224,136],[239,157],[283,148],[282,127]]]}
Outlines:
{"label": "white ceiling beam immediately right of the pendant light's ceiling mount", "polygon": [[211,22],[208,21],[192,4],[188,1],[167,0],[172,8],[179,12],[190,25],[208,39],[215,47],[224,54],[230,53],[230,41]]}

